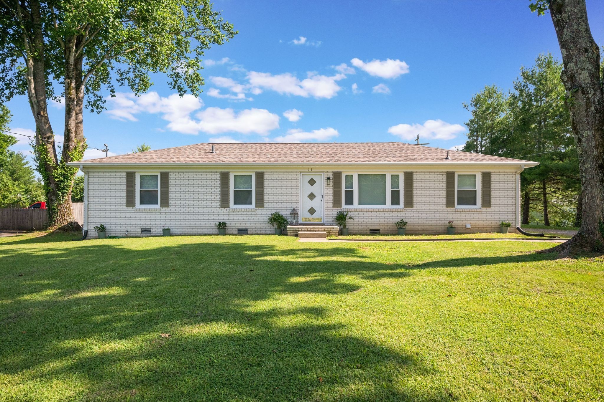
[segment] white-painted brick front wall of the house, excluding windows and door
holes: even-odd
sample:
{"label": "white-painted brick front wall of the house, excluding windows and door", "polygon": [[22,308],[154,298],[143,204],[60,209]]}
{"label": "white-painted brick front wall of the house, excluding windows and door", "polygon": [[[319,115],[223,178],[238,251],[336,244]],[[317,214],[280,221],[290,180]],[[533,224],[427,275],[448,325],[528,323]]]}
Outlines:
{"label": "white-painted brick front wall of the house, excluding windows and door", "polygon": [[[257,209],[220,208],[220,173],[208,171],[170,172],[170,207],[161,209],[127,208],[126,174],[123,171],[88,172],[88,229],[104,224],[109,235],[141,235],[141,228],[151,228],[150,236],[161,234],[162,225],[172,234],[214,234],[214,223],[225,221],[226,233],[236,234],[247,228],[249,234],[273,233],[266,223],[268,215],[279,211],[290,219],[295,207],[300,211],[300,173],[298,171],[265,172],[265,207]],[[326,172],[325,177],[333,177]],[[445,208],[445,172],[416,171],[414,207],[408,209],[346,209],[355,218],[350,221],[351,234],[367,234],[379,228],[382,233],[396,233],[394,222],[408,221],[407,233],[445,233],[447,221],[454,221],[457,233],[498,231],[499,222],[515,224],[516,174],[492,171],[492,207],[478,210]],[[402,193],[402,191],[401,191]],[[325,184],[324,224],[333,225],[339,209],[332,208],[333,185]],[[402,199],[401,199],[402,201]],[[465,224],[471,224],[466,229]],[[511,231],[514,229],[511,228]],[[148,234],[146,236],[149,236]]]}

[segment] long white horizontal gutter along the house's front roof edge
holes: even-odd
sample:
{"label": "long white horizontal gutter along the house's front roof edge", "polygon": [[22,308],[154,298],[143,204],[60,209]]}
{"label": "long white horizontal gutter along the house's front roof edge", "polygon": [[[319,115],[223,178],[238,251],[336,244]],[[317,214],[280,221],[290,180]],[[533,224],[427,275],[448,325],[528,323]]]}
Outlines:
{"label": "long white horizontal gutter along the house's front roof edge", "polygon": [[295,162],[295,163],[237,163],[237,162],[224,162],[224,163],[173,163],[173,162],[68,162],[68,166],[191,166],[191,167],[202,167],[202,166],[358,166],[358,165],[370,165],[370,166],[467,166],[467,165],[481,165],[481,166],[517,166],[522,163],[522,169],[524,166],[537,166],[539,162],[349,162],[349,163],[330,163],[330,162]]}

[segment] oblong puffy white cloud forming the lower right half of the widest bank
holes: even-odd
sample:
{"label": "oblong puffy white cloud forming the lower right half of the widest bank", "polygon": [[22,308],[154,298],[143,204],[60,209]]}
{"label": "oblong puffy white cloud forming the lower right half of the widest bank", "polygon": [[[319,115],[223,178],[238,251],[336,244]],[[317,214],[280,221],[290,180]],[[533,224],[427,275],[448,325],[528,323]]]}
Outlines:
{"label": "oblong puffy white cloud forming the lower right half of the widest bank", "polygon": [[198,130],[208,134],[237,133],[268,134],[271,130],[279,128],[279,116],[266,109],[245,109],[235,113],[233,109],[208,107],[196,114]]}

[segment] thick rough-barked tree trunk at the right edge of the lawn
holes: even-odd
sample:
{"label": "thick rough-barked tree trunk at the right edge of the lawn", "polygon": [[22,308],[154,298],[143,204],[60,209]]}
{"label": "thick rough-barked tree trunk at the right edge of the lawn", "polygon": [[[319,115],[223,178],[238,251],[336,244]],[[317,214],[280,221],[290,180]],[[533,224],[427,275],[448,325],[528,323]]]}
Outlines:
{"label": "thick rough-barked tree trunk at the right edge of the lawn", "polygon": [[604,93],[600,51],[591,36],[585,0],[550,0],[550,14],[564,70],[571,125],[579,154],[582,187],[581,227],[554,248],[562,255],[604,250]]}

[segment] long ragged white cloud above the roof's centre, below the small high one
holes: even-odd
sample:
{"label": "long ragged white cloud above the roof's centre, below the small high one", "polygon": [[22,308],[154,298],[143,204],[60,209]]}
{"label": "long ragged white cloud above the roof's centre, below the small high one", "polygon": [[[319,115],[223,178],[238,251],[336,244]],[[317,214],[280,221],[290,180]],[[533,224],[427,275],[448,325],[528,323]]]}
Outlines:
{"label": "long ragged white cloud above the roof's centre, below the small high one", "polygon": [[251,71],[248,74],[248,80],[252,87],[273,90],[277,93],[286,95],[297,95],[308,98],[333,98],[340,89],[336,81],[346,78],[344,74],[336,74],[332,77],[318,75],[315,72],[309,72],[308,78],[298,80],[292,74],[272,75],[268,72]]}

